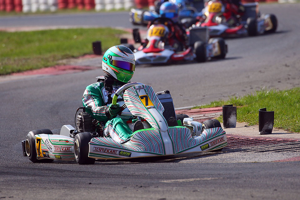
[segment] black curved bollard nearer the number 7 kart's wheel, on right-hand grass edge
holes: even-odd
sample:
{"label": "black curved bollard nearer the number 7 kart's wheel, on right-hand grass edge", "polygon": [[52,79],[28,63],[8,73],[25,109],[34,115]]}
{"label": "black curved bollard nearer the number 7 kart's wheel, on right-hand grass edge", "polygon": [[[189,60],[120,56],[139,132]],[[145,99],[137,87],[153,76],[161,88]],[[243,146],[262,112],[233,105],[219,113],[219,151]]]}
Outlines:
{"label": "black curved bollard nearer the number 7 kart's wheel, on right-hand grass edge", "polygon": [[237,126],[237,107],[230,105],[222,106],[223,109],[223,127],[235,128]]}

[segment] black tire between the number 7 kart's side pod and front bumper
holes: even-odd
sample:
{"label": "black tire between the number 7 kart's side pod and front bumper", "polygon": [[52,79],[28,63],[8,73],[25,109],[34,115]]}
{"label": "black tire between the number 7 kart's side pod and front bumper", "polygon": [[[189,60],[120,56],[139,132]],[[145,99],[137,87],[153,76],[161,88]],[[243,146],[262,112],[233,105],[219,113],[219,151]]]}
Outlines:
{"label": "black tire between the number 7 kart's side pod and front bumper", "polygon": [[89,132],[78,133],[74,138],[75,160],[80,165],[92,165],[95,163],[95,158],[88,157],[88,143],[91,141],[92,138],[93,136]]}

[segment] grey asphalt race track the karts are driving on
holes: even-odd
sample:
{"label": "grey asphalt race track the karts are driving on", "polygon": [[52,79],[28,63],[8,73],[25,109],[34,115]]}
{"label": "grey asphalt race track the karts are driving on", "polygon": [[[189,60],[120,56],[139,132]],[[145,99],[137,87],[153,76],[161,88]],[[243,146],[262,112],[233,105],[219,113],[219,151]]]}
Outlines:
{"label": "grey asphalt race track the karts are driving on", "polygon": [[[277,33],[226,40],[229,53],[222,61],[138,68],[133,81],[152,85],[155,91],[170,90],[177,108],[263,87],[299,87],[299,9],[299,3],[262,5],[262,13],[277,15]],[[95,18],[97,14],[81,16]],[[126,13],[121,14],[127,20]],[[112,13],[99,15],[115,23]],[[30,16],[27,22],[13,22],[11,27],[32,26],[41,17]],[[0,27],[5,26],[3,21],[11,25],[8,19],[14,18],[0,18]],[[66,25],[60,24],[63,18],[55,21]],[[79,19],[74,21],[76,26],[84,25]],[[43,22],[44,26],[52,23]],[[300,162],[270,162],[299,156],[299,152],[191,154],[101,161],[92,166],[74,161],[34,164],[23,157],[21,140],[29,131],[49,128],[58,132],[62,125],[74,123],[86,85],[101,74],[97,69],[0,83],[1,198],[299,199]]]}

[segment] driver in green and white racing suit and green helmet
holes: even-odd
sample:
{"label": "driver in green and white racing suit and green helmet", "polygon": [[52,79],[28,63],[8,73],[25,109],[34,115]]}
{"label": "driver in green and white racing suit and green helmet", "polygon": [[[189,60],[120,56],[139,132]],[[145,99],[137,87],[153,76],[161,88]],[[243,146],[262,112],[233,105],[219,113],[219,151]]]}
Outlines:
{"label": "driver in green and white racing suit and green helmet", "polygon": [[[94,119],[105,124],[104,137],[111,137],[119,143],[131,138],[134,131],[144,128],[143,123],[137,121],[132,131],[126,123],[130,116],[118,115],[121,112],[120,104],[124,104],[121,95],[117,100],[119,103],[112,104],[114,93],[130,82],[134,69],[135,58],[128,47],[121,45],[110,47],[102,59],[102,70],[106,75],[104,78],[99,77],[99,82],[88,85],[82,97],[86,111]],[[124,111],[129,112],[128,108]]]}

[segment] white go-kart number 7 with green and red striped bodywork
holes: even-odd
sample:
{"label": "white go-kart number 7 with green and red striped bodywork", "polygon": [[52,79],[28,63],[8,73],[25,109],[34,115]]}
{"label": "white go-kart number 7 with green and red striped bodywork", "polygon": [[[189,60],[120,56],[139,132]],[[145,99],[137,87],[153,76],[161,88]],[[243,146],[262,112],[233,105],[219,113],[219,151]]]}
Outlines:
{"label": "white go-kart number 7 with green and red striped bodywork", "polygon": [[[131,113],[119,115],[133,115],[150,128],[137,130],[132,138],[118,143],[113,138],[101,137],[99,131],[93,132],[88,114],[82,112],[76,128],[64,125],[59,135],[53,135],[49,129],[30,131],[22,141],[23,155],[33,163],[75,159],[79,164],[93,164],[95,159],[168,156],[217,151],[227,146],[226,133],[217,120],[201,124],[184,115],[176,120],[168,91],[155,94],[151,86],[135,82],[117,90],[114,105],[120,95],[125,102],[122,108],[127,107]],[[168,118],[172,113],[174,117]]]}

